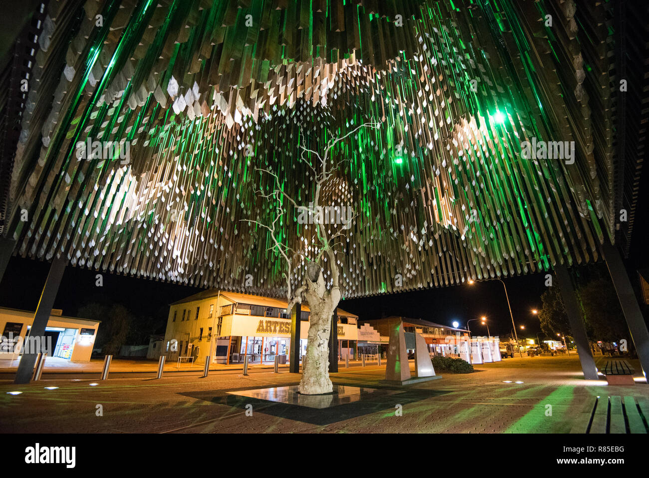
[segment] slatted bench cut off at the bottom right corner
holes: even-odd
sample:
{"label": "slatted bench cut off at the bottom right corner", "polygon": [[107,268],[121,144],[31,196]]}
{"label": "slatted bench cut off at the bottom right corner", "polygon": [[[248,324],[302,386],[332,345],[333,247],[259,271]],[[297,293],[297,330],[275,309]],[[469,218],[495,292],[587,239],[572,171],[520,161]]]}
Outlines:
{"label": "slatted bench cut off at the bottom right corner", "polygon": [[570,433],[647,433],[649,401],[634,397],[591,397],[576,414]]}

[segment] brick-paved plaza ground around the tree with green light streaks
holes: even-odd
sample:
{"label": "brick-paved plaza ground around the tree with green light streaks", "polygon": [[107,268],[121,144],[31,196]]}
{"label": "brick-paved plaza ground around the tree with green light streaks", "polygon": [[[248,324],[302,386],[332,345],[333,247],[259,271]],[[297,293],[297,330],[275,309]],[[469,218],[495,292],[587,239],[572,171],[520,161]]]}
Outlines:
{"label": "brick-paved plaza ground around the tree with green light streaks", "polygon": [[[202,370],[195,370],[160,380],[102,382],[84,373],[43,375],[38,383],[20,386],[1,380],[0,428],[8,433],[567,433],[590,397],[649,398],[640,376],[634,386],[583,380],[576,355],[517,357],[475,367],[474,373],[441,373],[440,380],[406,388],[382,386],[384,366],[341,369],[332,374],[336,384],[397,393],[371,394],[324,410],[228,394],[299,383],[300,375],[254,367],[248,376],[221,370],[201,378]],[[23,393],[6,393],[12,391]]]}

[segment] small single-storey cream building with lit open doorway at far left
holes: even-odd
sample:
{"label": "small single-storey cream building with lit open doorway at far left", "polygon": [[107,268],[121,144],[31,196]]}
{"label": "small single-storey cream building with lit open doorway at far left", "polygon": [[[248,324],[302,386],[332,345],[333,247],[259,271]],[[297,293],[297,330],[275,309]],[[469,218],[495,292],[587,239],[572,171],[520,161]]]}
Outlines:
{"label": "small single-storey cream building with lit open doorway at far left", "polygon": [[[29,344],[25,336],[34,322],[35,312],[0,307],[0,359],[18,359],[23,346]],[[47,347],[48,357],[59,357],[72,362],[88,362],[97,337],[99,320],[67,317],[53,308],[45,327],[45,335],[38,338]]]}

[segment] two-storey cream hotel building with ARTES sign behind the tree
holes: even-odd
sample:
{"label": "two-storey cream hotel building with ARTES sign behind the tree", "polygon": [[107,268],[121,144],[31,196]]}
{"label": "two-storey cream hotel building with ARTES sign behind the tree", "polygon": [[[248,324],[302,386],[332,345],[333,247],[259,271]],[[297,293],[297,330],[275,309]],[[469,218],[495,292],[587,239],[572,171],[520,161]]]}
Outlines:
{"label": "two-storey cream hotel building with ARTES sign behind the tree", "polygon": [[[302,305],[300,355],[306,353],[308,317],[309,308]],[[354,314],[337,309],[341,358],[356,349],[357,323]],[[290,345],[291,319],[286,301],[208,290],[171,304],[163,351],[171,360],[185,357],[204,362],[212,349],[212,360],[221,364],[243,362],[245,356],[249,363],[272,363],[277,355],[284,364]]]}

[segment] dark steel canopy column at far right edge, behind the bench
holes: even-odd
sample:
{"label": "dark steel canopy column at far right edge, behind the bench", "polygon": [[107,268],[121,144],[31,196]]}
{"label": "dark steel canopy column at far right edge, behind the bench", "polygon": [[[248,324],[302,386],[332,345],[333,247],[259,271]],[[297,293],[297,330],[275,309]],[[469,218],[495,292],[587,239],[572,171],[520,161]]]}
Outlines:
{"label": "dark steel canopy column at far right edge, behind the bench", "polygon": [[[606,241],[602,245],[602,252],[606,260],[615,292],[617,292],[618,301],[622,307],[622,313],[629,327],[631,340],[640,359],[640,365],[643,368],[644,377],[649,371],[649,332],[644,323],[643,313],[638,305],[637,298],[633,292],[631,281],[624,268],[624,263],[620,257],[617,247],[608,244]],[[623,338],[623,337],[620,337]]]}

